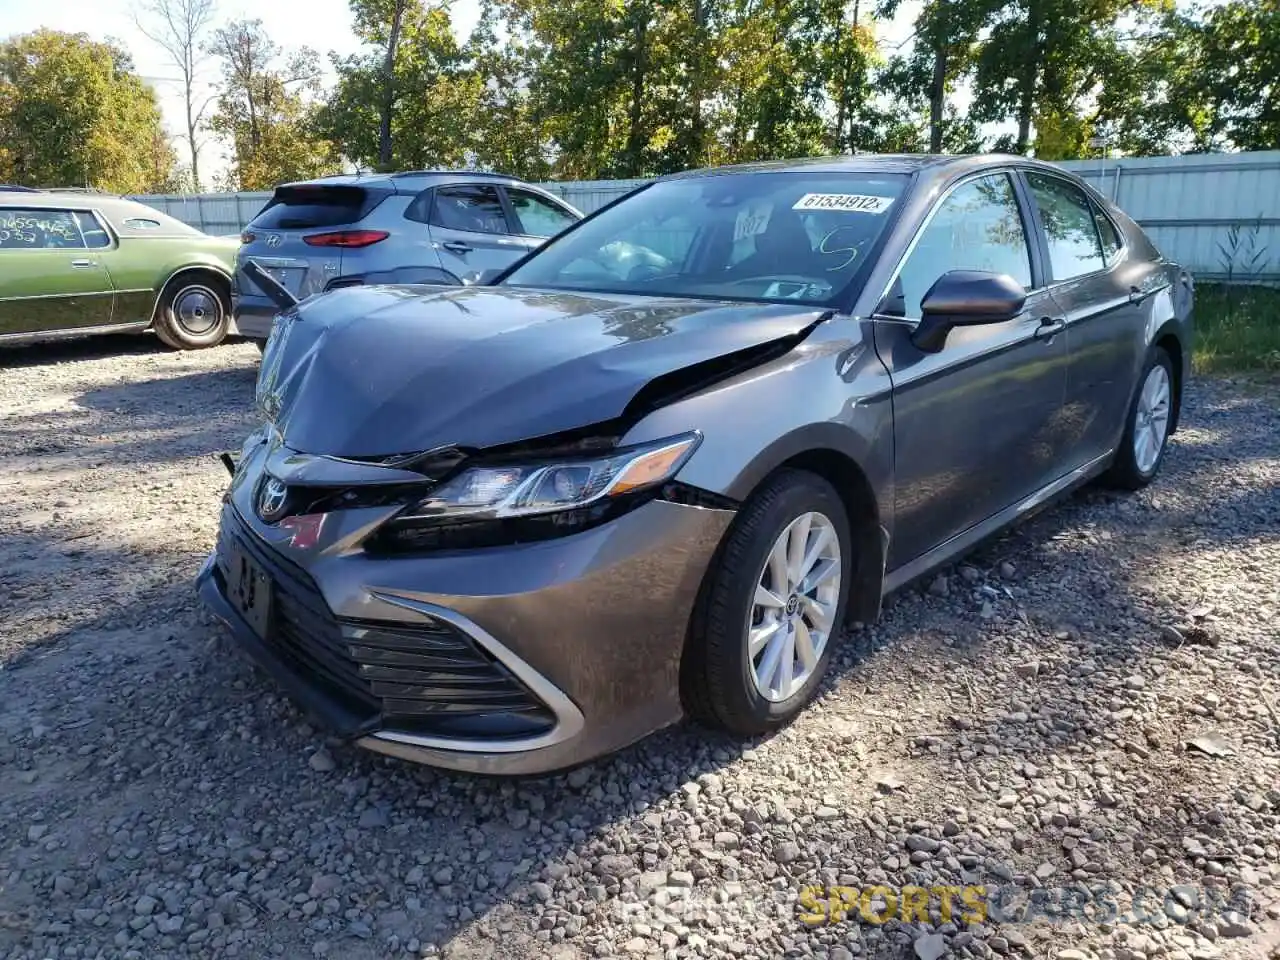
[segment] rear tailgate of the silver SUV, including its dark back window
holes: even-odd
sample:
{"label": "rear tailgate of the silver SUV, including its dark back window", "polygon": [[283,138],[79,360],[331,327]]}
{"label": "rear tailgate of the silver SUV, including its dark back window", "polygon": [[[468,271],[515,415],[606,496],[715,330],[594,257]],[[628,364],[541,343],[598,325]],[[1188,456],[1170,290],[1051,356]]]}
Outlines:
{"label": "rear tailgate of the silver SUV, including its dark back window", "polygon": [[387,239],[383,230],[361,227],[392,195],[381,186],[303,183],[276,187],[270,202],[244,229],[236,285],[244,307],[274,312],[275,305],[248,276],[252,260],[293,296],[305,300],[343,273],[343,257]]}

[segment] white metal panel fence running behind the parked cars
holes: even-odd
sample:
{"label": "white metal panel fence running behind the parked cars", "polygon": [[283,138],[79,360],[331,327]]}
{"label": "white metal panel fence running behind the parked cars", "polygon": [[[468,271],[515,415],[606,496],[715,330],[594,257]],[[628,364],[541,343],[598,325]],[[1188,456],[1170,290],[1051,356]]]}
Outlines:
{"label": "white metal panel fence running behind the parked cars", "polygon": [[[1199,279],[1280,280],[1280,151],[1071,160]],[[591,212],[645,180],[544,183]],[[239,233],[270,193],[136,197],[207,233]],[[1234,239],[1233,239],[1234,238]]]}

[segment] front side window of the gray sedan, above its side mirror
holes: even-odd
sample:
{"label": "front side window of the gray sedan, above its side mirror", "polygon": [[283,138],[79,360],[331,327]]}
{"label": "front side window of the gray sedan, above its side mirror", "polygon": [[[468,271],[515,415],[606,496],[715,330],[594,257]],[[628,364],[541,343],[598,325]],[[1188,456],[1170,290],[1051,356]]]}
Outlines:
{"label": "front side window of the gray sedan, above its side mirror", "polygon": [[1009,174],[969,180],[941,201],[899,273],[905,316],[922,315],[924,294],[950,270],[1007,274],[1030,288],[1030,248]]}

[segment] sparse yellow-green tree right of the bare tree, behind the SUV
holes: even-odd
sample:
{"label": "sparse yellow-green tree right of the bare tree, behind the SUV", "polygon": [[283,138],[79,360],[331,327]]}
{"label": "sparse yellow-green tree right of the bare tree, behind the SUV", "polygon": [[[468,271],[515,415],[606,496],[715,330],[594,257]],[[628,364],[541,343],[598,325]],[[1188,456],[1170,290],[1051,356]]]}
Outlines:
{"label": "sparse yellow-green tree right of the bare tree, behind the SUV", "polygon": [[340,168],[333,146],[315,131],[320,68],[314,50],[285,55],[261,20],[216,29],[210,50],[221,61],[223,93],[209,125],[232,148],[223,187],[270,189]]}

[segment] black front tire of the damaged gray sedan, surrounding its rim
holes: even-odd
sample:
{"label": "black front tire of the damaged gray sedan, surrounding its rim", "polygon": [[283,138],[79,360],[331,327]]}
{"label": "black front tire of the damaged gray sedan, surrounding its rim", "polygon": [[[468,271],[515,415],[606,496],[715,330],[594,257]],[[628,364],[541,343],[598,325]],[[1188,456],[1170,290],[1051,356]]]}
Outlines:
{"label": "black front tire of the damaged gray sedan, surrounding its rim", "polygon": [[[840,543],[841,585],[827,645],[809,680],[788,699],[771,701],[756,689],[748,654],[748,623],[756,584],[774,541],[804,513],[824,515]],[[783,470],[756,490],[707,572],[690,621],[681,664],[681,698],[699,723],[740,737],[788,723],[813,699],[831,663],[849,603],[855,568],[849,517],[835,488],[806,471]]]}

